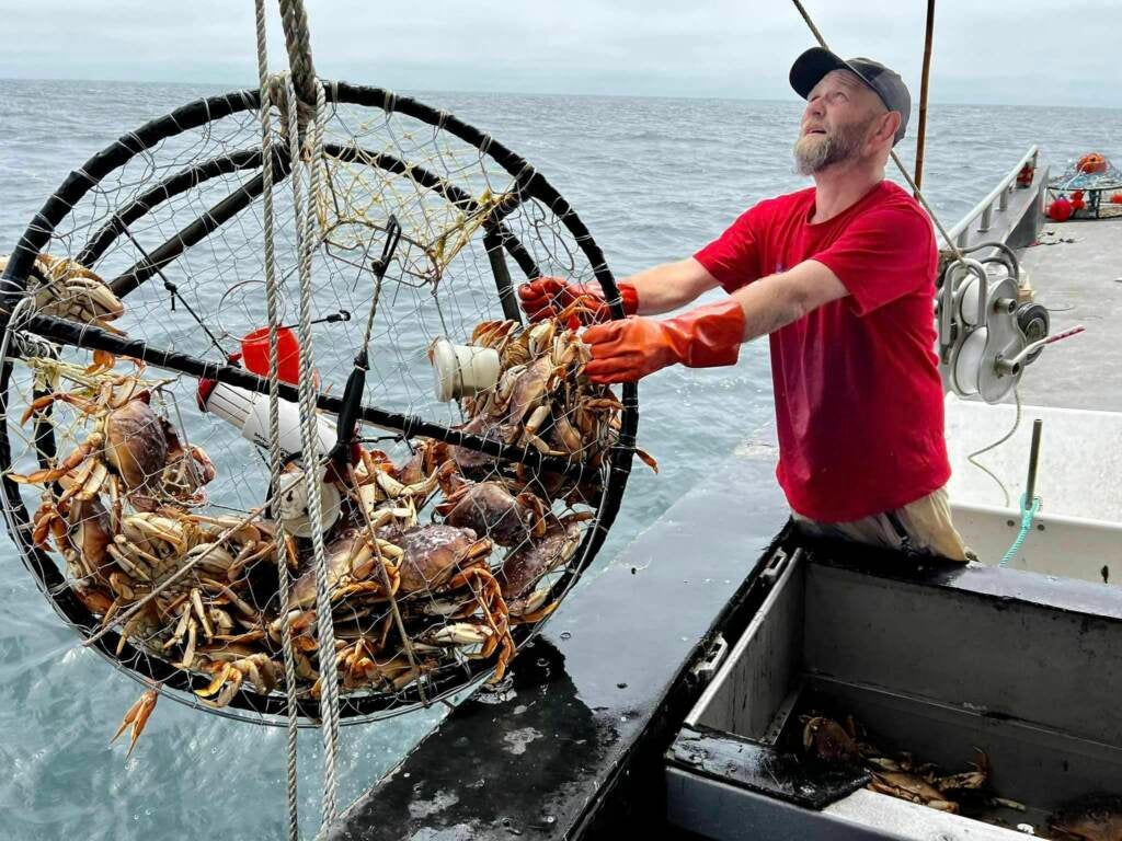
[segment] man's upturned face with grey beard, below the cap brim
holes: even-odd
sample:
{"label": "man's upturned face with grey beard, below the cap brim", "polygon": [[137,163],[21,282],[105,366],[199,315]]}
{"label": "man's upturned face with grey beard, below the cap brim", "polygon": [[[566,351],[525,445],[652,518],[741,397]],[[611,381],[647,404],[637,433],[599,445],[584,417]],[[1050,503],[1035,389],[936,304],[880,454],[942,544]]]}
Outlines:
{"label": "man's upturned face with grey beard, below the cap brim", "polygon": [[807,98],[794,163],[802,175],[859,160],[884,103],[849,71],[822,76]]}

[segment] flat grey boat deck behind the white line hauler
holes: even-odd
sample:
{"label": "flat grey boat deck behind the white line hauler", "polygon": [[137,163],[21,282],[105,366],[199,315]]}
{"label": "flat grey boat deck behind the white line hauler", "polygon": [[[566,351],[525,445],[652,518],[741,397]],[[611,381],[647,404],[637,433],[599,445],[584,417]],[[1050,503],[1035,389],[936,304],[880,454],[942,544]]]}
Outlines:
{"label": "flat grey boat deck behind the white line hauler", "polygon": [[[1049,223],[1020,251],[1051,333],[1086,332],[1049,345],[1021,378],[1030,406],[1122,412],[1122,219]],[[1012,397],[1009,400],[1012,403]]]}

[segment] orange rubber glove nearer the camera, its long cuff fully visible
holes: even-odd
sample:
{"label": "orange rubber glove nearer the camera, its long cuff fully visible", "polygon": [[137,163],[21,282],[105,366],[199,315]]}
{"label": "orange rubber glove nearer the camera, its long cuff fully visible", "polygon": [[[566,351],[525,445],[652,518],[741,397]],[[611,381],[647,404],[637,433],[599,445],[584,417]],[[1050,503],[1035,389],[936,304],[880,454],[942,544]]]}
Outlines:
{"label": "orange rubber glove nearer the camera, its long cuff fully visible", "polygon": [[733,299],[721,301],[665,321],[636,316],[599,324],[581,339],[592,351],[585,372],[594,382],[633,382],[675,363],[734,364],[744,340],[744,311]]}

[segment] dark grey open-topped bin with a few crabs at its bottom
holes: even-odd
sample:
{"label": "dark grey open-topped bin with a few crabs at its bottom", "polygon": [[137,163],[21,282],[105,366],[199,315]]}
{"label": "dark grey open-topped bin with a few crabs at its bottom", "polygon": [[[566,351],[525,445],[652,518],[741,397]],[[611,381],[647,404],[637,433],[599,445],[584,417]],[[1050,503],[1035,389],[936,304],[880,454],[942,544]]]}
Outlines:
{"label": "dark grey open-topped bin with a few crabs at its bottom", "polygon": [[[1047,838],[1058,810],[1122,793],[1115,589],[838,544],[779,549],[755,586],[760,608],[666,754],[675,825],[949,841],[1024,838],[1028,824]],[[959,814],[871,791],[859,763],[804,751],[811,711],[853,715],[889,756],[944,774],[971,770],[982,750],[985,787]]]}

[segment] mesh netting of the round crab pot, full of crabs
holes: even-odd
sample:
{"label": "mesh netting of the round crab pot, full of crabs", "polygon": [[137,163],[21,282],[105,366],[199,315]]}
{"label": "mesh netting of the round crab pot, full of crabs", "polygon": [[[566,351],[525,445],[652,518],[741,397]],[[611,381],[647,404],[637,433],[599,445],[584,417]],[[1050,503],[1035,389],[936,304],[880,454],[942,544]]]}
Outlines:
{"label": "mesh netting of the round crab pot, full of crabs", "polygon": [[[522,324],[477,330],[516,316],[512,280],[598,279],[616,297],[591,237],[541,175],[489,137],[412,100],[343,84],[329,87],[329,100],[327,185],[312,202],[320,237],[312,249],[313,363],[321,396],[342,395],[362,346],[374,264],[390,218],[401,232],[378,293],[362,399],[365,409],[388,413],[389,423],[359,426],[367,458],[356,481],[370,487],[364,497],[362,488],[340,484],[341,512],[325,535],[329,563],[335,557],[341,713],[362,720],[462,690],[493,674],[504,650],[528,640],[610,526],[634,450],[636,404],[634,387],[611,395],[579,376],[571,321],[533,341]],[[6,272],[30,294],[12,323],[4,368],[0,468],[13,539],[67,621],[83,636],[111,627],[95,643],[99,650],[136,676],[180,690],[171,693],[177,700],[272,722],[285,695],[277,621],[284,606],[267,549],[270,511],[254,519],[254,528],[231,533],[269,499],[268,453],[202,410],[197,377],[199,364],[224,366],[242,336],[266,325],[257,107],[255,92],[186,105],[123,136],[48,200]],[[275,130],[282,122],[274,120]],[[276,130],[279,321],[294,325],[296,220],[286,149]],[[306,195],[306,173],[304,184]],[[36,260],[40,253],[49,257]],[[74,285],[85,283],[73,280],[83,274],[79,265],[123,304],[100,327],[86,326],[91,320],[68,306],[90,296]],[[61,278],[53,297],[43,294],[45,277]],[[473,400],[438,401],[430,345],[438,336],[468,343],[473,334],[503,352],[499,387]],[[99,341],[118,353],[95,358]],[[160,357],[156,349],[174,353]],[[548,372],[545,387],[519,380],[543,355],[549,364],[537,371]],[[138,368],[136,357],[160,364]],[[524,391],[530,397],[512,397]],[[39,412],[24,419],[36,399]],[[540,406],[549,408],[544,419],[539,413],[531,442],[525,423]],[[121,419],[129,413],[131,426]],[[320,417],[335,419],[330,412]],[[438,443],[448,437],[442,431],[466,424],[508,445],[509,458]],[[153,447],[166,455],[153,460]],[[55,475],[80,450],[85,458]],[[544,450],[552,455],[543,461]],[[148,465],[139,486],[122,472],[122,459]],[[582,465],[581,472],[570,465]],[[52,478],[42,479],[52,468]],[[11,479],[36,471],[38,481]],[[448,499],[458,489],[458,525],[449,525]],[[494,508],[490,495],[516,502]],[[384,539],[374,561],[360,498]],[[54,510],[45,502],[56,503]],[[465,572],[472,566],[469,546],[473,571]],[[209,558],[141,611],[122,639],[117,617],[208,549]],[[298,611],[300,709],[316,718],[315,622],[307,613],[314,601],[298,600],[314,575],[311,542],[294,539],[283,554],[292,567],[288,612]],[[230,558],[234,569],[223,574]],[[408,646],[392,617],[383,563],[393,574]],[[116,611],[108,621],[107,611]]]}

